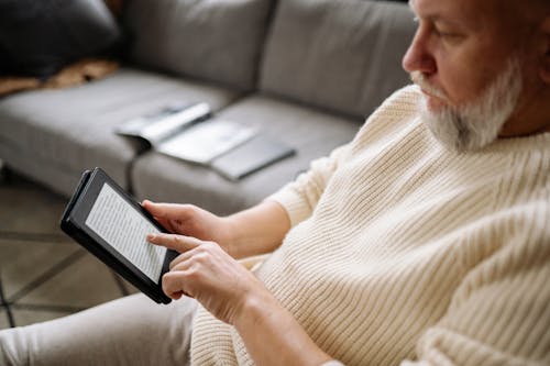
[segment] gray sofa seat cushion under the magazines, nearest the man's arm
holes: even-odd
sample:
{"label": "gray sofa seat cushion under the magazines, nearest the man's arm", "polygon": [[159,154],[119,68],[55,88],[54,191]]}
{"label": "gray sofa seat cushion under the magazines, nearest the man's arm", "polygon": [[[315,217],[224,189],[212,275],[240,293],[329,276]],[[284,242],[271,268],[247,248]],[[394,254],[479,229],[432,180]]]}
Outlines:
{"label": "gray sofa seat cushion under the magazines, nearest the man's arm", "polygon": [[261,133],[294,146],[297,154],[238,182],[210,168],[148,152],[132,169],[140,199],[195,203],[218,214],[251,207],[305,171],[312,159],[352,140],[360,122],[319,110],[255,95],[218,113],[220,119],[257,126]]}

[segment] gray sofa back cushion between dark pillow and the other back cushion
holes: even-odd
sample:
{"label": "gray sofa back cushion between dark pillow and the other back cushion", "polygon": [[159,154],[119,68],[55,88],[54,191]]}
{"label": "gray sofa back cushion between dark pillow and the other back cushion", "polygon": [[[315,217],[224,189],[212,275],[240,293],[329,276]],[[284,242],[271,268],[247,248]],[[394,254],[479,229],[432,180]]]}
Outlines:
{"label": "gray sofa back cushion between dark pillow and the other back cushion", "polygon": [[133,0],[124,23],[143,66],[231,85],[255,85],[271,0]]}

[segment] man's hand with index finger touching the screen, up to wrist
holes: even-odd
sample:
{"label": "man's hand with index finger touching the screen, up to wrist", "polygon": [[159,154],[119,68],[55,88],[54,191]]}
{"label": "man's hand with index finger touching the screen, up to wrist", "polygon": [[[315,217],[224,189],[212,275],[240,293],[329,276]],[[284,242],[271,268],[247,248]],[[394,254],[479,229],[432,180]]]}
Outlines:
{"label": "man's hand with index finger touching the screen, up to wrist", "polygon": [[251,298],[271,298],[263,284],[215,242],[175,234],[150,234],[147,240],[182,253],[163,276],[163,290],[172,299],[195,298],[216,318],[234,324]]}

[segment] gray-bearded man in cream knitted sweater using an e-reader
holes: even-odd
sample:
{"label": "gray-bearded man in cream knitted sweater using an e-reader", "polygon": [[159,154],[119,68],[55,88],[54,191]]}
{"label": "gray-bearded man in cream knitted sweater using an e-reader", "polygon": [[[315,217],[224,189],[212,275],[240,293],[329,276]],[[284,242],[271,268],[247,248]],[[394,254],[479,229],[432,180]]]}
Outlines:
{"label": "gray-bearded man in cream knitted sweater using an e-reader", "polygon": [[198,365],[548,365],[550,3],[410,4],[419,87],[350,144],[228,218],[143,202],[174,232],[148,241],[182,253],[178,301],[10,330],[7,358],[169,365],[191,343]]}

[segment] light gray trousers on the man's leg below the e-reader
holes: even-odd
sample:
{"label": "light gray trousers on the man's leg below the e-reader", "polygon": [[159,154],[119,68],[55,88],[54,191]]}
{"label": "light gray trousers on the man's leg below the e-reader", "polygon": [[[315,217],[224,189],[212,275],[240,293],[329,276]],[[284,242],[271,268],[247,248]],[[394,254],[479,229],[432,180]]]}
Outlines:
{"label": "light gray trousers on the man's leg below the e-reader", "polygon": [[197,302],[139,293],[82,312],[0,331],[0,365],[188,365]]}

